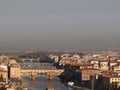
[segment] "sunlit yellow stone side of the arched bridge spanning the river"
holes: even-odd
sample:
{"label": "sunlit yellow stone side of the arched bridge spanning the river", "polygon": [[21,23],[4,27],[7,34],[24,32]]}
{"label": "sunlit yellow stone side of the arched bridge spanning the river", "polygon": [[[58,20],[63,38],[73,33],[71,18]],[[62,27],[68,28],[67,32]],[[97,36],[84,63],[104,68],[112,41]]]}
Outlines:
{"label": "sunlit yellow stone side of the arched bridge spanning the river", "polygon": [[64,69],[55,70],[33,70],[33,69],[23,69],[21,70],[21,76],[30,76],[33,80],[37,75],[45,75],[48,79],[52,79],[55,76],[59,76]]}

